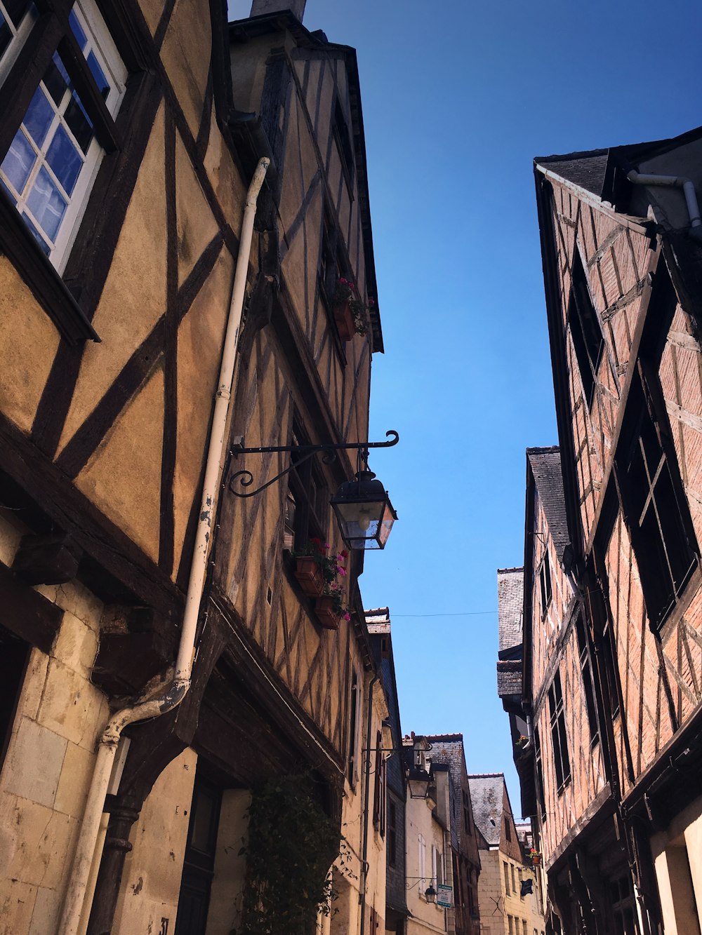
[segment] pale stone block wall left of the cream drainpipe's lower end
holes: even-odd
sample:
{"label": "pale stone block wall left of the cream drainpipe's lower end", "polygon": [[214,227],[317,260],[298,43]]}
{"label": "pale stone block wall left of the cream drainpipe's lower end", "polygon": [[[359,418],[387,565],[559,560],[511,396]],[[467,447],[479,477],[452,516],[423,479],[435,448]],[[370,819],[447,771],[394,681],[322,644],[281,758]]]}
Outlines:
{"label": "pale stone block wall left of the cream drainpipe's lower end", "polygon": [[[6,565],[25,531],[0,517]],[[51,653],[31,652],[0,773],[0,935],[55,935],[95,741],[109,717],[89,681],[102,604],[80,583],[37,591],[64,614]]]}

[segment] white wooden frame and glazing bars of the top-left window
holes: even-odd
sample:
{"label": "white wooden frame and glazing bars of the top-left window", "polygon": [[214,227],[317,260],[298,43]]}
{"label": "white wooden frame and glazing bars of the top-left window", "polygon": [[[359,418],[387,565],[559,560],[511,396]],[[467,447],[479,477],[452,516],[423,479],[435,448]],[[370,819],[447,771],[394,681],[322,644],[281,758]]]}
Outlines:
{"label": "white wooden frame and glazing bars of the top-left window", "polygon": [[[0,0],[0,2],[2,2],[2,0]],[[108,94],[105,104],[110,111],[110,115],[113,117],[116,114],[124,97],[125,83],[127,79],[126,67],[124,66],[117,47],[115,46],[112,37],[110,36],[105,21],[97,9],[94,0],[77,0],[73,6],[73,11],[76,14],[78,22],[80,22],[81,29],[88,39],[88,46],[85,50],[86,58],[88,52],[93,51],[95,53],[95,58],[97,59],[98,64],[105,74],[106,79],[108,79],[110,82],[110,93]],[[28,19],[30,18],[25,16],[24,20],[26,21]],[[22,21],[22,26],[23,24],[24,21]],[[29,28],[31,28],[31,22],[29,24]],[[19,35],[20,34],[18,32],[17,36]],[[10,47],[13,44],[14,40],[10,43]],[[8,50],[10,47],[8,47]],[[18,50],[19,48],[20,46],[18,46]],[[55,124],[59,121],[63,122],[66,133],[69,135],[69,137],[72,137],[70,129],[67,127],[66,122],[63,121],[62,116],[55,114],[51,122],[51,126],[54,127]],[[24,137],[27,139],[30,146],[37,155],[35,165],[33,165],[32,171],[24,183],[23,191],[25,195],[22,197],[14,190],[11,184],[8,184],[7,179],[4,179],[4,181],[6,184],[8,184],[8,187],[13,192],[13,196],[17,202],[16,208],[18,211],[20,211],[20,213],[22,213],[22,211],[26,211],[30,220],[38,229],[41,225],[37,223],[36,219],[32,216],[32,212],[25,204],[25,201],[26,197],[31,194],[33,182],[37,178],[37,174],[42,167],[46,169],[54,181],[58,181],[53,176],[51,167],[45,161],[46,151],[48,151],[49,146],[51,145],[53,133],[47,133],[46,138],[40,148],[37,147],[35,141],[31,139],[29,135],[25,134]],[[85,209],[88,204],[88,198],[93,189],[97,171],[100,167],[100,163],[102,162],[104,155],[105,151],[98,143],[96,137],[93,137],[93,140],[88,147],[88,151],[85,153],[83,165],[80,168],[78,180],[76,181],[73,193],[71,195],[67,195],[65,192],[63,192],[62,189],[62,194],[66,196],[66,212],[61,221],[56,240],[53,242],[53,246],[49,254],[49,260],[52,266],[54,266],[59,272],[59,274],[63,273],[66,268],[68,256],[78,234],[80,222],[82,220],[83,214],[85,213]]]}

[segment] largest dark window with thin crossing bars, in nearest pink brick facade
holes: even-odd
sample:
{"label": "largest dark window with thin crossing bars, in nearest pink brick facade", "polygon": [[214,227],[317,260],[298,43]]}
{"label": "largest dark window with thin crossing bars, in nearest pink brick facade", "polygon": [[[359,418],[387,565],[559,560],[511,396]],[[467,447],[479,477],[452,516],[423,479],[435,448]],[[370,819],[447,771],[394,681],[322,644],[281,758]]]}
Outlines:
{"label": "largest dark window with thin crossing bars, in nearest pink brick facade", "polygon": [[698,546],[670,440],[642,365],[627,409],[637,413],[630,440],[615,458],[617,480],[652,626],[660,627],[697,565]]}

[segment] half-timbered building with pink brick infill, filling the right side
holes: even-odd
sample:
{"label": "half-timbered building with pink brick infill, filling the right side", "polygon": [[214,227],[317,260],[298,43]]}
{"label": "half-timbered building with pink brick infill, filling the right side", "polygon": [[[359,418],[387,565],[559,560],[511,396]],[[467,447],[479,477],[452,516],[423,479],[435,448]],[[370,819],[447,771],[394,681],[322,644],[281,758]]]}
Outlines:
{"label": "half-timbered building with pink brick infill, filling the right side", "polygon": [[534,164],[560,449],[527,455],[517,762],[565,932],[702,921],[701,149]]}

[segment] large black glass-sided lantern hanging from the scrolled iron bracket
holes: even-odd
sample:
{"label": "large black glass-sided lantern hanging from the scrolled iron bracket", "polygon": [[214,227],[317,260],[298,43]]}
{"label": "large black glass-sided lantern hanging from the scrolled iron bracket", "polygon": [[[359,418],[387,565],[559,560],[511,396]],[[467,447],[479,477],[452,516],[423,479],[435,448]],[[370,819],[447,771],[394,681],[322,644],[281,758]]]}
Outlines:
{"label": "large black glass-sided lantern hanging from the scrolled iron bracket", "polygon": [[331,498],[344,541],[350,549],[384,549],[397,519],[388,491],[372,470],[360,470]]}

